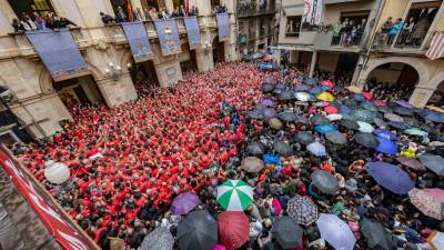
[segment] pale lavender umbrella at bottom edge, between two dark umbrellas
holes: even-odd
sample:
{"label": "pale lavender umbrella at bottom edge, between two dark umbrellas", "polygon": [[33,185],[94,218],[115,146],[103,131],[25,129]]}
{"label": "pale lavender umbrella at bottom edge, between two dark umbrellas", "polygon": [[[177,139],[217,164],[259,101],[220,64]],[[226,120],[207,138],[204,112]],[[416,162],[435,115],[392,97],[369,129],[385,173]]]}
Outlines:
{"label": "pale lavender umbrella at bottom edge, between two dark umbrellas", "polygon": [[321,232],[321,238],[326,240],[334,249],[353,250],[356,238],[349,224],[336,214],[321,213],[316,224]]}

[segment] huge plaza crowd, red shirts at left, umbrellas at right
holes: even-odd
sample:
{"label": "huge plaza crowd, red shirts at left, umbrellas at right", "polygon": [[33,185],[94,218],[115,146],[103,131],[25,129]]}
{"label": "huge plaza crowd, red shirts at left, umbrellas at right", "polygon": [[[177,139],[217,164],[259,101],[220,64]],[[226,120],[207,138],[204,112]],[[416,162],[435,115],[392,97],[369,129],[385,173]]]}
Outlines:
{"label": "huge plaza crowd, red shirts at left, umbrellas at right", "polygon": [[346,79],[220,63],[11,150],[102,249],[436,249],[443,110]]}

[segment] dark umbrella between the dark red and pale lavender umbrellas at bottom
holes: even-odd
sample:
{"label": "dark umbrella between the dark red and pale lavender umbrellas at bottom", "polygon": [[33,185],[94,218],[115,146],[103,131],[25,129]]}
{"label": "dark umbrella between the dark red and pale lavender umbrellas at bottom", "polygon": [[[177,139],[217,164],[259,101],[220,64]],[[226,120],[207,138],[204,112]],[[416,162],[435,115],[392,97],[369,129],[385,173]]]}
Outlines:
{"label": "dark umbrella between the dark red and pale lavender umbrellas at bottom", "polygon": [[303,230],[291,217],[276,218],[271,232],[283,249],[297,248],[302,243]]}

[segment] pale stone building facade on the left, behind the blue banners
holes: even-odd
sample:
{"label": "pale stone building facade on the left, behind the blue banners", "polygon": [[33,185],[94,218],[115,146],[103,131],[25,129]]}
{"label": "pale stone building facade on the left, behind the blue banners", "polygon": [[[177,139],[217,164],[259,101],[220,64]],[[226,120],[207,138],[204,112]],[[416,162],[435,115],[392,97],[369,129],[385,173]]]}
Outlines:
{"label": "pale stone building facade on the left, behind the blue banners", "polygon": [[[20,3],[19,3],[20,2]],[[228,8],[230,39],[219,42],[218,23],[211,0],[190,0],[188,8],[196,7],[201,32],[201,46],[190,50],[182,19],[175,19],[182,52],[163,56],[153,21],[143,21],[151,43],[153,58],[134,63],[122,27],[104,24],[100,12],[117,17],[119,8],[128,10],[170,13],[183,4],[173,0],[0,0],[0,86],[9,88],[12,100],[0,103],[0,138],[4,141],[20,140],[27,131],[31,137],[44,138],[61,129],[60,122],[70,120],[67,97],[78,102],[103,102],[113,107],[137,99],[134,83],[141,76],[161,87],[169,87],[182,79],[186,70],[209,71],[216,61],[238,59],[234,1],[221,0],[218,4]],[[22,13],[54,12],[77,24],[70,29],[90,74],[54,82],[34,48],[23,33],[14,32],[11,20]],[[137,11],[134,11],[137,12]],[[63,57],[63,54],[60,54]],[[12,122],[14,121],[14,122]]]}

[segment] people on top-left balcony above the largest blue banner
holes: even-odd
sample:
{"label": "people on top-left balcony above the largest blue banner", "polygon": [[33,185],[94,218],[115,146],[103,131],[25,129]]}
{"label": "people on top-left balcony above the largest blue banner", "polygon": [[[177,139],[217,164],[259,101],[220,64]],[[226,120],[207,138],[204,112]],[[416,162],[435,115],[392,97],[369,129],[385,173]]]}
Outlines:
{"label": "people on top-left balcony above the largest blue banner", "polygon": [[20,19],[12,19],[14,32],[37,31],[37,30],[58,30],[69,27],[77,27],[71,20],[49,12],[46,17],[40,17],[38,12],[32,12],[31,17],[23,12]]}

